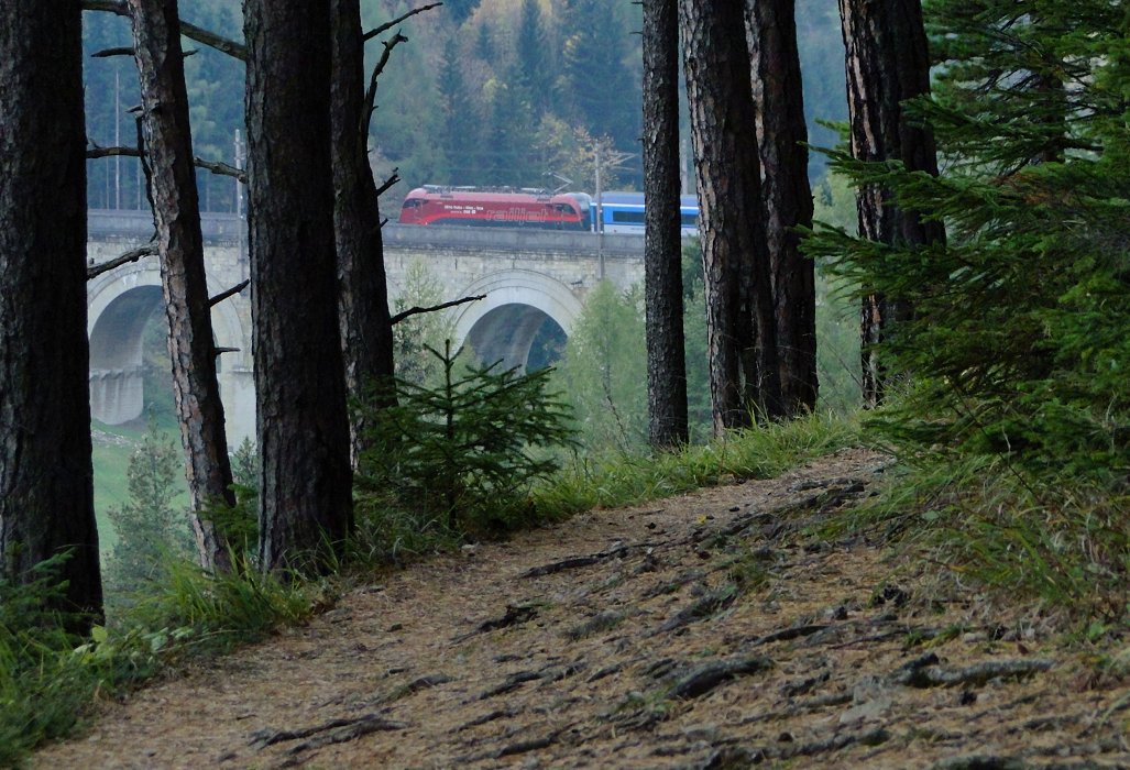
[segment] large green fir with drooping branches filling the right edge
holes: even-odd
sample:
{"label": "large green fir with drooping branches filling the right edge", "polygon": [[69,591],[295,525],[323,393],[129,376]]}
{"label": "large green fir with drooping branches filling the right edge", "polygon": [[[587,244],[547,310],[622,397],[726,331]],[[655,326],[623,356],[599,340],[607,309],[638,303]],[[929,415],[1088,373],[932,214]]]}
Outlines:
{"label": "large green fir with drooping branches filling the right edge", "polygon": [[1124,476],[1130,19],[1097,0],[1036,2],[1023,16],[1012,3],[929,8],[945,68],[915,114],[933,126],[945,173],[844,155],[836,165],[945,219],[949,243],[910,250],[829,231],[815,251],[913,304],[886,344],[915,384],[889,422],[896,435]]}

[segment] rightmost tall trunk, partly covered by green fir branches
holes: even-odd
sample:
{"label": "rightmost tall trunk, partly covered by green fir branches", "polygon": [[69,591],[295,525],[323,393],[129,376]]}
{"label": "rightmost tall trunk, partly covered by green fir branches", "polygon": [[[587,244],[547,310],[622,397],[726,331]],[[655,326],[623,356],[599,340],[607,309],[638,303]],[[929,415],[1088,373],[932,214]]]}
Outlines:
{"label": "rightmost tall trunk, partly covered by green fir branches", "polygon": [[[909,170],[938,173],[937,149],[929,129],[907,120],[906,99],[930,93],[930,60],[919,0],[840,0],[846,47],[847,113],[852,157],[902,160]],[[929,244],[945,239],[938,222],[924,222],[895,205],[890,191],[869,186],[857,192],[859,230],[885,244]],[[877,294],[863,299],[863,404],[883,400],[888,373],[876,345],[909,317],[905,304]]]}

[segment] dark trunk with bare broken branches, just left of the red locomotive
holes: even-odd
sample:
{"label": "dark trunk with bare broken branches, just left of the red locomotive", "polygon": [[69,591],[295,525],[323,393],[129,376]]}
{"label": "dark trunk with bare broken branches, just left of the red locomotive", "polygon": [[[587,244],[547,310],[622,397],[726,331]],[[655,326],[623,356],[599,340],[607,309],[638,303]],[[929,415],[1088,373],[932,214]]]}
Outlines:
{"label": "dark trunk with bare broken branches, just left of the red locomotive", "polygon": [[[365,43],[359,0],[331,0],[333,82],[333,231],[337,244],[338,305],[346,388],[355,401],[377,387],[376,406],[394,403],[392,323],[384,274],[384,245],[376,184],[368,164],[365,111]],[[350,420],[353,455],[365,448],[362,413]]]}

